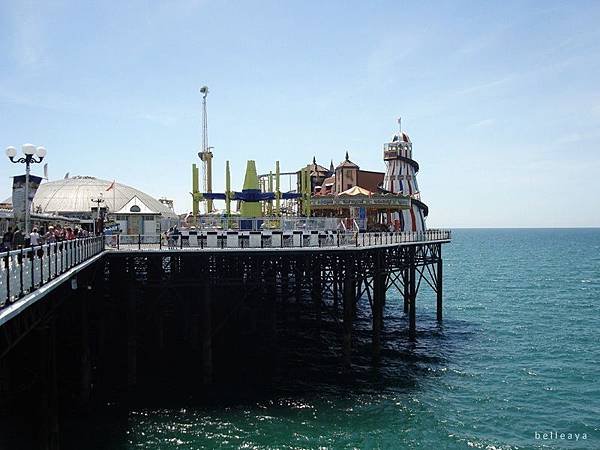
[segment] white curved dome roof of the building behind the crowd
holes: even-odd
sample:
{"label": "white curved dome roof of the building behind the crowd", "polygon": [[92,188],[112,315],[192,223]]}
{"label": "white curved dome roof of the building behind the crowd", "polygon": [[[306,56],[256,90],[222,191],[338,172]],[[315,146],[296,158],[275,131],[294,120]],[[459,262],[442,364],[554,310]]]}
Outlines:
{"label": "white curved dome roof of the building behind the crowd", "polygon": [[109,212],[114,212],[119,211],[129,200],[137,196],[150,210],[165,217],[175,216],[173,211],[154,197],[131,186],[115,183],[114,193],[113,189],[107,191],[111,184],[112,181],[94,177],[72,177],[42,183],[33,198],[33,210],[41,208],[45,213],[61,214],[89,213],[92,208],[97,207],[97,204],[92,202],[92,198],[102,195],[104,198],[102,206],[107,207]]}

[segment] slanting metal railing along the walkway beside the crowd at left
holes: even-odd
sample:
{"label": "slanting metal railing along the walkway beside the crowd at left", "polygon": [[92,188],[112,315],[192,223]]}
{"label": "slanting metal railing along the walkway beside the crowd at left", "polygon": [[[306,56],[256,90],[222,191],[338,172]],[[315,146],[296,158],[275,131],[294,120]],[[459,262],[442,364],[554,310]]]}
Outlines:
{"label": "slanting metal railing along the walkway beside the crowd at left", "polygon": [[32,293],[104,250],[104,237],[36,245],[0,253],[0,308]]}

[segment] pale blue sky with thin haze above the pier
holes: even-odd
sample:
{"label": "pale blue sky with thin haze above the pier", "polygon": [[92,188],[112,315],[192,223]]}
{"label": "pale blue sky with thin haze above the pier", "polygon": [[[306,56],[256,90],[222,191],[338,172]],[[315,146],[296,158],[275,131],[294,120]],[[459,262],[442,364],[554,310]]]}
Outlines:
{"label": "pale blue sky with thin haze above the pier", "polygon": [[598,24],[594,1],[0,0],[0,144],[189,211],[207,85],[215,191],[226,160],[237,189],[247,159],[384,171],[402,117],[429,227],[600,226]]}

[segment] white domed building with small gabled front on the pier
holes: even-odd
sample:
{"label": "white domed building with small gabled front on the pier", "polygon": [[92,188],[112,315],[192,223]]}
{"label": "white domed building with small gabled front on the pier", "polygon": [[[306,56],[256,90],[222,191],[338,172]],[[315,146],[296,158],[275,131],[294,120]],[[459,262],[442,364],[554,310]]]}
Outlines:
{"label": "white domed building with small gabled front on the pier", "polygon": [[119,224],[124,234],[155,234],[177,221],[167,202],[125,184],[76,176],[40,184],[32,202],[34,213],[51,213],[93,220],[100,208]]}

